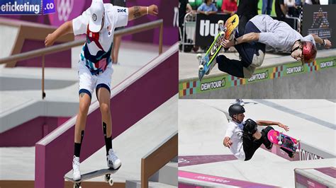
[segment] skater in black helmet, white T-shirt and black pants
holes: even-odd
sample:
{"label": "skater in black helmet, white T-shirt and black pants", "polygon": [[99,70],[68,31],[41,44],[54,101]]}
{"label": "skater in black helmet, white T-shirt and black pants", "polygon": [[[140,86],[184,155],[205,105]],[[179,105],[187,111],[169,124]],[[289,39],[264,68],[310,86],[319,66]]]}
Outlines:
{"label": "skater in black helmet, white T-shirt and black pants", "polygon": [[[289,131],[289,127],[280,122],[271,122],[265,120],[258,120],[254,122],[252,119],[245,118],[245,109],[241,105],[231,105],[229,107],[229,115],[232,121],[228,124],[228,129],[225,131],[223,145],[230,148],[230,151],[240,160],[250,160],[254,152],[264,144],[267,149],[271,149],[273,143],[267,139],[267,133],[273,129],[270,125],[277,125],[285,131]],[[257,126],[267,126],[260,132]],[[281,148],[293,158],[294,153]]]}

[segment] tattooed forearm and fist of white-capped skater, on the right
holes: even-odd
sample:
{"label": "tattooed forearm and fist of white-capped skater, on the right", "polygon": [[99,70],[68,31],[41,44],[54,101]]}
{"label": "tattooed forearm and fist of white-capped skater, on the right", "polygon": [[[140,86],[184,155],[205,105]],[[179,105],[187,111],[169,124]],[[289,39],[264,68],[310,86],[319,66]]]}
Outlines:
{"label": "tattooed forearm and fist of white-capped skater, on the right", "polygon": [[155,4],[151,6],[132,6],[128,8],[128,20],[134,20],[147,14],[157,16],[158,10]]}

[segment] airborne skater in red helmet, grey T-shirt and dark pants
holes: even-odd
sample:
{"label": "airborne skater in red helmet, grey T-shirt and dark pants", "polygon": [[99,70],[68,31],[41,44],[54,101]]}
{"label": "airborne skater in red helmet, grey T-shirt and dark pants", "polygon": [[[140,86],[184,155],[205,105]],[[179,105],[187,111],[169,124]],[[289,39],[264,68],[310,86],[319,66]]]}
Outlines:
{"label": "airborne skater in red helmet, grey T-shirt and dark pants", "polygon": [[303,37],[287,23],[267,15],[257,15],[247,22],[244,35],[236,32],[233,40],[222,42],[223,47],[234,45],[241,60],[219,55],[216,62],[220,71],[240,78],[250,78],[254,70],[262,65],[265,51],[275,49],[291,52],[291,57],[304,64],[314,61],[317,52],[315,43],[326,49],[332,45],[329,40],[323,40],[318,35]]}

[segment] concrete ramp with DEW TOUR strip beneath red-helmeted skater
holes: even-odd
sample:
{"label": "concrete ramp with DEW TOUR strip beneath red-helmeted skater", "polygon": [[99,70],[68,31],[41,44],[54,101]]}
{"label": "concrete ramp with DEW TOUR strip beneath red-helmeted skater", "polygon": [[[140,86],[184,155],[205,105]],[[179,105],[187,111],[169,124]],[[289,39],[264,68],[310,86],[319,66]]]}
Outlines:
{"label": "concrete ramp with DEW TOUR strip beneath red-helmeted skater", "polygon": [[[222,53],[239,59],[237,52]],[[203,54],[204,55],[204,54]],[[198,80],[194,53],[179,53],[180,98],[335,98],[336,49],[319,50],[316,61],[301,65],[289,54],[267,53],[251,78],[230,76],[215,66]],[[314,90],[311,90],[314,86]]]}

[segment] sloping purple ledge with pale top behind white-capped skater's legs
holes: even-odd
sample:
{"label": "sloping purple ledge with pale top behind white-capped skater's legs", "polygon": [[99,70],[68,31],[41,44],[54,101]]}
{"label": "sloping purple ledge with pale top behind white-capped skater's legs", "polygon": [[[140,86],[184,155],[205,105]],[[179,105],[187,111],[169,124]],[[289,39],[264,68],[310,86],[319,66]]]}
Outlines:
{"label": "sloping purple ledge with pale top behind white-capped skater's legs", "polygon": [[[111,90],[113,139],[177,93],[177,49],[173,45]],[[64,185],[63,175],[71,169],[75,119],[72,117],[36,143],[35,187]],[[86,120],[83,145],[87,147],[82,149],[82,160],[104,145],[97,119],[101,119],[99,102],[94,102]]]}

